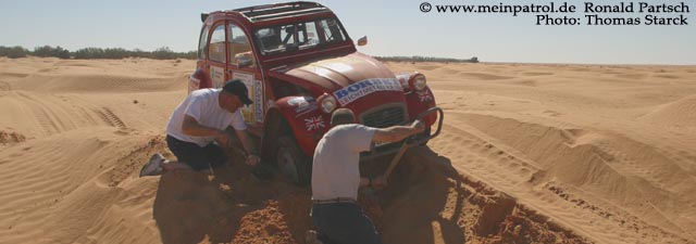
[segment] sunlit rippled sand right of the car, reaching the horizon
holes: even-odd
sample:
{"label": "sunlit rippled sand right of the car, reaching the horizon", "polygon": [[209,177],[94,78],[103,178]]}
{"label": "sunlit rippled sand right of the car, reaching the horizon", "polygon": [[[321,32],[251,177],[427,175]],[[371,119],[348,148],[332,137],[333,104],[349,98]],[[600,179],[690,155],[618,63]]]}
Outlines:
{"label": "sunlit rippled sand right of the car, reaching the horizon", "polygon": [[693,242],[694,67],[460,66],[514,78],[430,78],[449,126],[433,151],[595,241]]}

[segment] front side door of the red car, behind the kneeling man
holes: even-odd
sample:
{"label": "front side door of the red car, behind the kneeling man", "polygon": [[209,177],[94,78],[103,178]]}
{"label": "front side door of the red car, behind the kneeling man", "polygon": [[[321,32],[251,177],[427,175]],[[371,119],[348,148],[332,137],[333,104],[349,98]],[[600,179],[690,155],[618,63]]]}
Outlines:
{"label": "front side door of the red car, behind the kneeling man", "polygon": [[251,43],[250,33],[234,22],[227,23],[227,75],[247,86],[253,104],[240,110],[249,131],[260,136],[265,112],[265,87]]}

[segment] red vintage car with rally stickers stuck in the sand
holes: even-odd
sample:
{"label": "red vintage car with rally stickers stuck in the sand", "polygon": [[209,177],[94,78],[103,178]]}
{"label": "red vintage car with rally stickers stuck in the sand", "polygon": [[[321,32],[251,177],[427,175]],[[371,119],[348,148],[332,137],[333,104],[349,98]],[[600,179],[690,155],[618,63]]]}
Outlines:
{"label": "red vintage car with rally stickers stuck in the sand", "polygon": [[[389,127],[412,121],[435,107],[418,72],[394,74],[356,50],[336,15],[314,2],[288,2],[201,14],[197,68],[189,92],[240,79],[253,104],[241,108],[249,132],[260,139],[264,162],[299,184],[311,179],[311,156],[330,129],[331,113],[350,108],[360,124]],[[366,44],[366,37],[358,46]],[[438,115],[424,115],[426,128]],[[424,144],[439,132],[413,143]],[[363,159],[394,153],[376,145]],[[398,144],[398,143],[396,143]]]}

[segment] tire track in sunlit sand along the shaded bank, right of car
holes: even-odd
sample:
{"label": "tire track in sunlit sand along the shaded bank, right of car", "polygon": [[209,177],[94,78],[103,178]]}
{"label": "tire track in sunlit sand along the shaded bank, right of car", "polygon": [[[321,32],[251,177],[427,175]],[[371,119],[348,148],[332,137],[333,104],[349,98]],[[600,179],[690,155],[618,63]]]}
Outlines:
{"label": "tire track in sunlit sand along the shaded bank, right of car", "polygon": [[629,213],[602,209],[588,200],[569,197],[569,190],[563,185],[538,182],[537,179],[546,172],[535,167],[534,162],[525,158],[524,154],[505,146],[473,127],[463,123],[452,125],[451,121],[450,116],[440,138],[431,142],[434,151],[450,158],[452,166],[460,172],[514,196],[520,203],[580,234],[607,243],[685,241],[645,223]]}

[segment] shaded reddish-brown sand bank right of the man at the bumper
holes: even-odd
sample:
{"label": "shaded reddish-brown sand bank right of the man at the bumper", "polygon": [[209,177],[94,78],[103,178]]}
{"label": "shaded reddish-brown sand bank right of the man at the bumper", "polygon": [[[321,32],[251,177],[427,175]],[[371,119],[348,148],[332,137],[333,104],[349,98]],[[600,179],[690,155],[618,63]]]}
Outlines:
{"label": "shaded reddish-brown sand bank right of the man at the bumper", "polygon": [[426,147],[410,151],[376,196],[386,243],[588,243],[514,197],[462,175]]}

